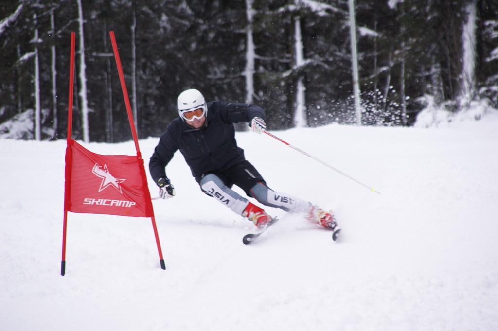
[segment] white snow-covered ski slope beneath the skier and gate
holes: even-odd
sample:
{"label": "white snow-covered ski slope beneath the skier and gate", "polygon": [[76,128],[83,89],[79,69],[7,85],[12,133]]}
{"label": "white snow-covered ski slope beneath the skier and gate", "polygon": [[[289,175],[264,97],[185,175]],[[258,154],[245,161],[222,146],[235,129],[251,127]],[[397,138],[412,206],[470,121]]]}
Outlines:
{"label": "white snow-covered ski slope beneath the skier and gate", "polygon": [[[498,330],[498,115],[439,129],[330,125],[238,133],[279,191],[332,209],[343,241],[298,215],[267,236],[205,196],[178,153],[177,197],[149,219],[69,214],[65,140],[0,140],[0,330]],[[157,142],[140,141],[144,158]],[[132,142],[85,145],[134,154]],[[149,181],[151,195],[157,195]]]}

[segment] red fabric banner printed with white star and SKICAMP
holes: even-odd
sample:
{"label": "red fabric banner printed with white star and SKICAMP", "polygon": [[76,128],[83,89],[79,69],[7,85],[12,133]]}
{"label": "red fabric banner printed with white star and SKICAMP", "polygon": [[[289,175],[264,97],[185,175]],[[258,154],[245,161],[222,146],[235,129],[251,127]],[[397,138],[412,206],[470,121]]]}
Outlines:
{"label": "red fabric banner printed with white star and SKICAMP", "polygon": [[66,211],[154,216],[141,158],[96,154],[70,140],[66,162]]}

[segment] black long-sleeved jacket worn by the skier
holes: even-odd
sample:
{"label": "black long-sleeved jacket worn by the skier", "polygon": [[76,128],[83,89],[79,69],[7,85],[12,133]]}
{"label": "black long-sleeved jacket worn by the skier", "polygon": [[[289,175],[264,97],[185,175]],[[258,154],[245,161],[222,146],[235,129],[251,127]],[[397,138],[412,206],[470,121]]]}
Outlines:
{"label": "black long-sleeved jacket worn by the skier", "polygon": [[155,183],[166,177],[165,167],[180,150],[196,181],[211,172],[223,172],[244,161],[244,150],[237,146],[234,123],[250,122],[253,117],[265,118],[256,105],[212,101],[204,125],[195,129],[178,117],[166,127],[149,161],[150,175]]}

